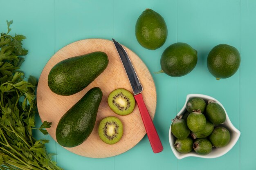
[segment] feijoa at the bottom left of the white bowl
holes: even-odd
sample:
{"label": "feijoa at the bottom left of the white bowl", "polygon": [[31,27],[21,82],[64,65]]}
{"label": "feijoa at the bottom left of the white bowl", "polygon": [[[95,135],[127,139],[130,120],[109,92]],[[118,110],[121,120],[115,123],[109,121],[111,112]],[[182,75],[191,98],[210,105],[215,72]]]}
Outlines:
{"label": "feijoa at the bottom left of the white bowl", "polygon": [[185,139],[176,139],[174,147],[180,153],[189,153],[193,150],[193,140],[189,137]]}

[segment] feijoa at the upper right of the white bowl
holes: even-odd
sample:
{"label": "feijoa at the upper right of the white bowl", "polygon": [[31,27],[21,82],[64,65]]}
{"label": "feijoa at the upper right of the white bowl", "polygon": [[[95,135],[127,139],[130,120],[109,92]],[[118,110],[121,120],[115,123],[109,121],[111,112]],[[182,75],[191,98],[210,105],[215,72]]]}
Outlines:
{"label": "feijoa at the upper right of the white bowl", "polygon": [[225,110],[214,100],[209,100],[206,110],[205,116],[211,123],[213,124],[223,124],[226,120]]}

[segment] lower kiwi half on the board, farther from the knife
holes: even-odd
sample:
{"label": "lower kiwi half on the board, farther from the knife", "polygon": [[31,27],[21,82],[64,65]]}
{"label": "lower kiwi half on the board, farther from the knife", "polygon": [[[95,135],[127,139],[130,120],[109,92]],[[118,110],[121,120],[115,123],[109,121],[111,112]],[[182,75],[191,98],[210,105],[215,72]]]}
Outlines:
{"label": "lower kiwi half on the board, farther from the knife", "polygon": [[101,120],[98,133],[106,144],[115,144],[123,136],[123,124],[117,117],[106,117]]}

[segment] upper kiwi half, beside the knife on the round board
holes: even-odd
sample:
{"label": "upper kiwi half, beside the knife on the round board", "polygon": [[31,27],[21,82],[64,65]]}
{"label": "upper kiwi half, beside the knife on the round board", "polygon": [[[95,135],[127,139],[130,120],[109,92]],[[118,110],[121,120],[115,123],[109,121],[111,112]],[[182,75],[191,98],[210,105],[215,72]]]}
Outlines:
{"label": "upper kiwi half, beside the knife on the round board", "polygon": [[118,88],[109,94],[108,106],[118,115],[128,115],[134,109],[135,99],[128,90]]}

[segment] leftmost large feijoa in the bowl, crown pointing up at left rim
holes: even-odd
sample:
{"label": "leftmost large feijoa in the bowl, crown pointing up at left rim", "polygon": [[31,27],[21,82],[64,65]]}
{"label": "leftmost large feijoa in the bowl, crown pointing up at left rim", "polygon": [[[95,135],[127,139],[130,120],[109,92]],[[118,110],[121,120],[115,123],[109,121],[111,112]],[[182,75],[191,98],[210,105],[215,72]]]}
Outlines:
{"label": "leftmost large feijoa in the bowl, crown pointing up at left rim", "polygon": [[182,115],[176,116],[175,119],[172,120],[171,124],[171,132],[178,139],[185,139],[189,136],[190,130],[186,125],[186,121],[182,119]]}

